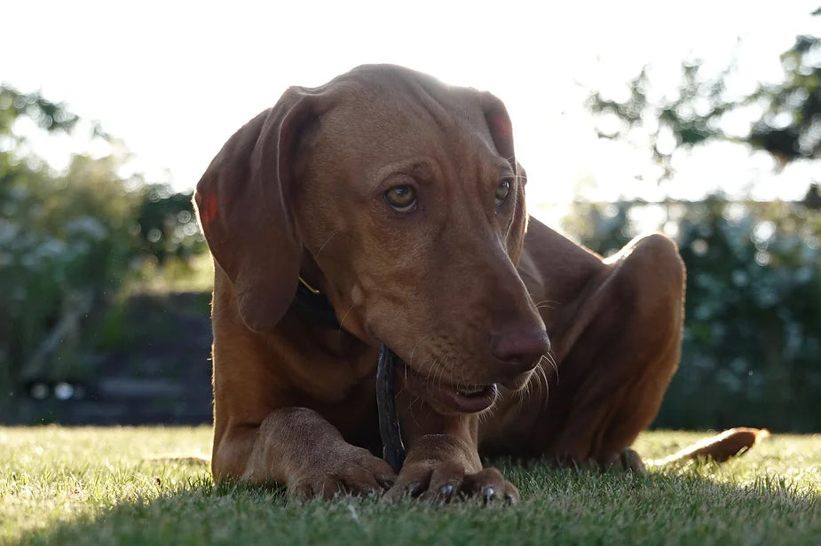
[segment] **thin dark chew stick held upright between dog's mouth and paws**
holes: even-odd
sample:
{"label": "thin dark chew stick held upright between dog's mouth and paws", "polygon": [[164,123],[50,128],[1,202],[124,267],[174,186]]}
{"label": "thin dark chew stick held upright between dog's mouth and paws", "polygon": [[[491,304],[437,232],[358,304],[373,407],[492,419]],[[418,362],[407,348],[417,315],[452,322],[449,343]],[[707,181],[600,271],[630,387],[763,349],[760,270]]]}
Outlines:
{"label": "thin dark chew stick held upright between dog's mouth and paws", "polygon": [[379,433],[382,436],[382,456],[399,474],[405,462],[405,444],[399,430],[394,399],[394,379],[397,355],[387,346],[379,346],[379,364],[376,367],[376,408],[379,411]]}

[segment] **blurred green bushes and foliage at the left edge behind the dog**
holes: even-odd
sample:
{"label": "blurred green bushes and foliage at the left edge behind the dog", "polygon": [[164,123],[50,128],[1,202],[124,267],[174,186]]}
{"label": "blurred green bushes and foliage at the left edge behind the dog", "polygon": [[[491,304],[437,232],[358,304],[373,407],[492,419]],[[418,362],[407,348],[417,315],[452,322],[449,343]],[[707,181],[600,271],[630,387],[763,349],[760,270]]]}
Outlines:
{"label": "blurred green bushes and foliage at the left edge behind the dog", "polygon": [[[31,151],[23,120],[73,133],[80,119],[0,86],[0,410],[32,377],[82,373],[83,332],[146,262],[205,250],[191,193],[118,175],[122,157],[75,155],[63,173]],[[110,137],[93,125],[91,138]],[[110,140],[109,140],[110,142]],[[59,377],[57,377],[59,378]]]}

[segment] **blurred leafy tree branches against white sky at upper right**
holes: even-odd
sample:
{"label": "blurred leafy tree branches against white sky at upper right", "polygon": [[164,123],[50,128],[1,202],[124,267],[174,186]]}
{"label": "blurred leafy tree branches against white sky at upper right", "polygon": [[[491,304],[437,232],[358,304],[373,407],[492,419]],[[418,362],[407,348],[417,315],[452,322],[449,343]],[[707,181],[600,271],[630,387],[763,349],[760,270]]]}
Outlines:
{"label": "blurred leafy tree branches against white sky at upper right", "polygon": [[[813,15],[821,14],[821,8]],[[661,98],[651,93],[648,67],[629,82],[630,95],[617,101],[594,92],[588,108],[603,119],[620,121],[620,129],[599,130],[605,138],[621,138],[634,129],[643,130],[651,155],[664,169],[662,178],[672,174],[671,159],[679,149],[727,140],[749,144],[773,155],[782,165],[799,159],[821,157],[821,38],[798,36],[781,55],[784,80],[763,83],[746,97],[730,94],[726,78],[731,66],[721,74],[709,75],[700,60],[682,66],[682,83],[672,95]],[[762,114],[746,135],[734,135],[722,125],[724,116],[742,108],[757,107]],[[817,196],[817,186],[810,190]]]}

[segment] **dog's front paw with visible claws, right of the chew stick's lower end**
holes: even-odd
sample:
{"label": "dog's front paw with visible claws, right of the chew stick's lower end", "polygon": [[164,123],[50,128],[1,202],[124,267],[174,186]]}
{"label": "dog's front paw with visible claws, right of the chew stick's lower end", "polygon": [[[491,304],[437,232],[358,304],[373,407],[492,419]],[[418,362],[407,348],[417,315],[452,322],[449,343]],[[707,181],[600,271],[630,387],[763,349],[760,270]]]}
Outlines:
{"label": "dog's front paw with visible claws, right of the chew stick's lower end", "polygon": [[495,468],[465,473],[459,463],[424,461],[403,467],[384,499],[395,502],[418,496],[437,501],[477,497],[485,503],[513,504],[517,503],[519,492]]}

